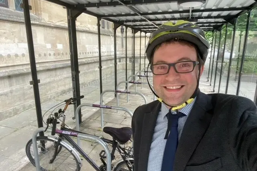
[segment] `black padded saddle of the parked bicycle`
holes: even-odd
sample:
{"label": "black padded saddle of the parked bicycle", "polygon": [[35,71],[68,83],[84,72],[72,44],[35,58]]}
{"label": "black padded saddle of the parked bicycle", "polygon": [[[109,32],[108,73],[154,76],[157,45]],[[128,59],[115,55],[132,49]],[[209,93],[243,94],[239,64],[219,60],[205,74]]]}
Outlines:
{"label": "black padded saddle of the parked bicycle", "polygon": [[130,127],[104,127],[103,131],[116,139],[120,144],[125,144],[128,140],[130,140],[132,136],[132,129]]}

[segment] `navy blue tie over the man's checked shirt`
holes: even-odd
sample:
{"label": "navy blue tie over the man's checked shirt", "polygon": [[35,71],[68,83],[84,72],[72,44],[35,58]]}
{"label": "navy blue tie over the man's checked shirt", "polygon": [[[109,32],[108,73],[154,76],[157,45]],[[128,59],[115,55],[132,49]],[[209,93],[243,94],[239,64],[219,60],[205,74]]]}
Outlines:
{"label": "navy blue tie over the man's checked shirt", "polygon": [[[177,112],[176,115],[172,115],[171,110],[167,114],[168,117],[168,129],[166,132],[166,136],[164,139],[167,139],[163,159],[161,171],[173,171],[175,154],[177,150],[178,144],[178,118],[182,117],[183,113]],[[169,134],[170,132],[170,134]],[[169,137],[168,137],[169,134]]]}

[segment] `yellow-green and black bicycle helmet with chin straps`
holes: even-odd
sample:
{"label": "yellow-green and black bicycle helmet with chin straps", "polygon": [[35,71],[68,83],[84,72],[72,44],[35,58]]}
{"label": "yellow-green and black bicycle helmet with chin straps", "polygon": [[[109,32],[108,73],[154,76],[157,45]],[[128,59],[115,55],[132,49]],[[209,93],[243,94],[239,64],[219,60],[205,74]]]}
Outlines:
{"label": "yellow-green and black bicycle helmet with chin straps", "polygon": [[[175,38],[180,40],[185,40],[187,42],[194,44],[197,47],[197,51],[198,51],[197,58],[201,58],[204,62],[206,61],[207,55],[208,55],[208,49],[210,45],[205,38],[204,31],[200,27],[194,25],[191,22],[179,20],[175,24],[172,22],[166,22],[162,24],[157,30],[153,31],[150,34],[148,44],[145,47],[146,57],[149,60],[148,67],[152,64],[155,47],[160,45],[163,42],[166,42]],[[147,78],[147,81],[150,86],[150,89],[152,90],[152,92],[155,94],[155,96],[158,98],[160,102],[163,102],[164,104],[172,107],[172,110],[178,111],[178,109],[185,107],[187,104],[193,102],[194,98],[197,96],[198,87],[199,87],[199,78],[200,78],[200,68],[201,66],[199,65],[199,75],[197,79],[197,86],[194,93],[192,94],[189,100],[187,100],[185,103],[183,103],[180,106],[170,106],[167,103],[163,102],[163,100],[160,99],[151,88],[148,78]],[[152,70],[152,67],[151,67],[151,70]]]}

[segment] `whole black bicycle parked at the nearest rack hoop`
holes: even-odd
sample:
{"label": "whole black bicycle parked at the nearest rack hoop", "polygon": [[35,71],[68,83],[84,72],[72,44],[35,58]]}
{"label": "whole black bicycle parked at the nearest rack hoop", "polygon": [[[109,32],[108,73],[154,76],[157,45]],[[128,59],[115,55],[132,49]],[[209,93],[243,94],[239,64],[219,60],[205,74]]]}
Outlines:
{"label": "whole black bicycle parked at the nearest rack hoop", "polygon": [[[84,96],[78,97],[80,99],[84,98]],[[60,170],[75,170],[75,171],[80,171],[81,166],[82,166],[82,160],[79,156],[83,156],[83,158],[91,165],[93,168],[97,171],[105,171],[106,170],[106,162],[104,159],[106,158],[105,151],[102,150],[99,154],[100,160],[102,161],[102,165],[100,167],[97,166],[97,164],[87,156],[87,154],[75,143],[74,140],[72,140],[70,137],[76,137],[78,133],[81,134],[86,134],[86,135],[91,135],[87,134],[86,132],[81,132],[77,131],[74,129],[67,128],[65,124],[65,111],[68,107],[69,104],[74,104],[74,101],[78,98],[70,98],[65,100],[65,107],[62,110],[61,108],[59,109],[58,112],[55,112],[54,115],[49,115],[47,119],[47,127],[44,132],[49,127],[49,124],[52,126],[51,130],[51,136],[39,136],[36,137],[36,141],[40,141],[38,148],[39,149],[39,159],[40,159],[40,169],[43,171],[46,170],[58,170],[56,167],[60,167]],[[73,102],[73,103],[72,103]],[[59,103],[61,104],[61,103]],[[57,105],[56,105],[57,106]],[[55,107],[55,106],[54,106]],[[52,107],[53,108],[53,107]],[[50,108],[51,109],[51,108]],[[50,110],[49,109],[49,110]],[[49,111],[48,110],[48,111]],[[45,115],[45,114],[44,114]],[[63,118],[60,120],[60,118]],[[42,117],[44,118],[44,116]],[[57,120],[62,121],[61,128],[56,129]],[[109,134],[113,137],[113,140],[105,139],[102,137],[96,137],[100,138],[103,140],[106,144],[111,145],[112,147],[112,152],[111,152],[111,161],[112,161],[112,171],[121,171],[121,170],[133,170],[133,148],[132,147],[122,147],[121,145],[127,143],[128,141],[131,140],[132,137],[132,129],[130,127],[121,127],[121,128],[114,128],[114,127],[104,127],[103,131],[106,134]],[[58,134],[59,136],[54,136]],[[91,135],[94,136],[94,135]],[[68,141],[66,143],[64,140]],[[48,144],[49,143],[49,144]],[[31,148],[33,150],[33,145],[32,145],[32,139],[30,139],[27,144],[26,144],[26,154],[29,159],[29,161],[35,166],[35,160],[33,158],[34,153],[31,152]],[[50,150],[53,150],[52,153],[50,153]],[[62,150],[63,149],[63,150]],[[113,161],[115,159],[115,151],[118,151],[121,158],[118,160],[115,164],[113,164]],[[62,154],[68,154],[69,156],[64,156],[62,157]],[[49,157],[44,157],[46,155],[49,155]],[[46,161],[41,161],[42,159],[46,159]],[[68,163],[67,165],[64,164],[64,162],[74,162],[75,164]],[[45,165],[49,164],[49,167],[46,167]],[[126,169],[123,169],[122,167],[125,166]]]}

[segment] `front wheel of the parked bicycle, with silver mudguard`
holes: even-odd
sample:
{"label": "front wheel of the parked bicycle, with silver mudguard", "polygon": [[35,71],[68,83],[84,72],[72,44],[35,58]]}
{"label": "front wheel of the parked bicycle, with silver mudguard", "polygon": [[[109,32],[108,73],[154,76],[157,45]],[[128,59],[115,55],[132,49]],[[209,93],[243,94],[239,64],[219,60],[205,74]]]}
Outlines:
{"label": "front wheel of the parked bicycle, with silver mudguard", "polygon": [[[45,148],[42,147],[41,142],[45,142]],[[38,144],[39,159],[40,159],[40,170],[42,171],[63,171],[63,170],[72,170],[79,171],[80,165],[77,158],[62,144],[58,147],[58,152],[56,158],[52,163],[49,161],[52,159],[54,154],[54,141],[48,139],[47,137],[40,136],[36,137],[36,143]],[[41,150],[43,148],[43,150]],[[34,150],[32,139],[26,144],[26,154],[29,161],[35,166],[34,160]]]}

